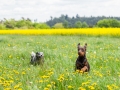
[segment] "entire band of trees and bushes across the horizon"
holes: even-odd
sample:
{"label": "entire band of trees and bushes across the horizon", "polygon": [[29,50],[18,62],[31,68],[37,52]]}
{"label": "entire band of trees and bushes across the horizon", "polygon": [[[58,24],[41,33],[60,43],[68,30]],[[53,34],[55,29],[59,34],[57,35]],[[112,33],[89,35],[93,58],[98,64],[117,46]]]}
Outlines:
{"label": "entire band of trees and bushes across the horizon", "polygon": [[49,29],[49,28],[119,28],[120,17],[69,17],[68,15],[61,15],[58,18],[50,17],[50,20],[41,23],[37,20],[31,21],[29,18],[3,19],[0,20],[0,29]]}

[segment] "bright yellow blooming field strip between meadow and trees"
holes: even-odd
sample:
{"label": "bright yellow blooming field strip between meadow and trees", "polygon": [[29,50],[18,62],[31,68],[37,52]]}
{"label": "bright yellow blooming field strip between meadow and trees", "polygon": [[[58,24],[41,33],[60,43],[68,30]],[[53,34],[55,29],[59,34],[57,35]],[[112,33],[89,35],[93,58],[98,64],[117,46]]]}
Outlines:
{"label": "bright yellow blooming field strip between meadow and trees", "polygon": [[82,34],[82,35],[119,36],[120,28],[0,30],[0,34],[26,34],[26,35]]}

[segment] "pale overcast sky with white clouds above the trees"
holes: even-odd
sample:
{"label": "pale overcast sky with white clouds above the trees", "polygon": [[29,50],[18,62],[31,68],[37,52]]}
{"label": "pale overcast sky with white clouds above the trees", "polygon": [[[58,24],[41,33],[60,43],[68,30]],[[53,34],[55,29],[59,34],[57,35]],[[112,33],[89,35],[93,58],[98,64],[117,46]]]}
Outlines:
{"label": "pale overcast sky with white clouds above the trees", "polygon": [[120,0],[0,0],[0,19],[37,19],[50,16],[120,16]]}

